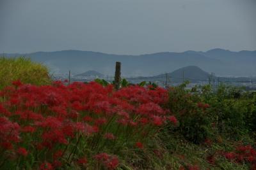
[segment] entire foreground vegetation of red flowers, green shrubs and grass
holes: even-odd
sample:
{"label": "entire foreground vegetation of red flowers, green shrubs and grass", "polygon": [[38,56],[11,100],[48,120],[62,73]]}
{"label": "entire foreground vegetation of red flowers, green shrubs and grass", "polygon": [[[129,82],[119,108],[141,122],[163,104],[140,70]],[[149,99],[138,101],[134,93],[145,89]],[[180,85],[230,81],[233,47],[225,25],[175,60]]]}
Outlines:
{"label": "entire foreground vegetation of red flowers, green shrubs and grass", "polygon": [[256,94],[90,83],[0,91],[0,169],[255,169]]}

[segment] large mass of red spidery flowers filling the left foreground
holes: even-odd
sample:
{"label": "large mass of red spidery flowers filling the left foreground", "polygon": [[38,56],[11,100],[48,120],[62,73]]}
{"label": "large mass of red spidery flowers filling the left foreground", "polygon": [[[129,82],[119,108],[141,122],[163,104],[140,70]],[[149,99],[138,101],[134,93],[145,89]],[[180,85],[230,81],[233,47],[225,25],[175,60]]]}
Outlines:
{"label": "large mass of red spidery flowers filling the left foreground", "polygon": [[177,124],[162,107],[167,102],[168,92],[160,87],[135,85],[116,91],[96,82],[56,81],[38,87],[14,81],[0,92],[0,148],[18,155],[6,164],[33,154],[39,163],[35,169],[55,169],[61,162],[81,166],[95,159],[115,169],[118,151],[108,155],[102,149],[113,148],[117,140],[127,148],[147,147],[159,126]]}

